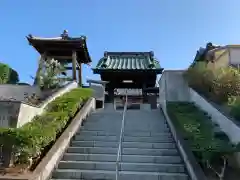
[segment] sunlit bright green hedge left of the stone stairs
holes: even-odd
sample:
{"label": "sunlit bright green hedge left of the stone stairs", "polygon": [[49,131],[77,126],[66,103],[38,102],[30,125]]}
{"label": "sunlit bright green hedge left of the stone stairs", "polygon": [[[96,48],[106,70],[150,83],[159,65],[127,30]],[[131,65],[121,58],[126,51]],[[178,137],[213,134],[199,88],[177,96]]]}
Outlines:
{"label": "sunlit bright green hedge left of the stone stairs", "polygon": [[75,116],[83,103],[92,96],[92,90],[78,88],[56,98],[46,112],[21,128],[0,130],[0,142],[13,144],[15,163],[25,164],[39,158]]}

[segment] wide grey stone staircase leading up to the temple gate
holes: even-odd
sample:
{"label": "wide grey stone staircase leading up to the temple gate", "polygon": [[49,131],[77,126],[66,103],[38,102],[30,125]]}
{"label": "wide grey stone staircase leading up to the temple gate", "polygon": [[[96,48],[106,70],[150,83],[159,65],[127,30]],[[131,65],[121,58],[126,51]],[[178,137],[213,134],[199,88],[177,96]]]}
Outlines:
{"label": "wide grey stone staircase leading up to the temple gate", "polygon": [[[85,121],[64,154],[55,180],[115,180],[122,112],[98,111]],[[189,180],[159,110],[128,110],[119,180]]]}

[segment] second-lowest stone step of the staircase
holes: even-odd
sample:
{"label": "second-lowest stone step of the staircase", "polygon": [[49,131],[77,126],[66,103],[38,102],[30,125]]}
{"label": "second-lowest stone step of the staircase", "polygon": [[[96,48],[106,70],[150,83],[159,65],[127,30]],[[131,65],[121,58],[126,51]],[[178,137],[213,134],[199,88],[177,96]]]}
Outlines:
{"label": "second-lowest stone step of the staircase", "polygon": [[[81,169],[81,170],[116,170],[116,162],[100,161],[61,161],[59,169]],[[145,172],[168,172],[185,173],[183,164],[155,164],[155,163],[120,163],[120,171],[145,171]]]}

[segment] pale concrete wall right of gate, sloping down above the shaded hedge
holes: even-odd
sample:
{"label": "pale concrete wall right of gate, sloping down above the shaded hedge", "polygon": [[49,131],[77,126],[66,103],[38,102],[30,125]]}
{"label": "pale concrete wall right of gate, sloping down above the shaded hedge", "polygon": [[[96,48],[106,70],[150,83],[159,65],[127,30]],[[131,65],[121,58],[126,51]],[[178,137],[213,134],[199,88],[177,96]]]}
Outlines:
{"label": "pale concrete wall right of gate, sloping down above the shaded hedge", "polygon": [[[183,72],[184,71],[163,72],[163,75],[159,80],[159,99],[163,111],[166,112],[167,101],[194,102],[199,108],[212,117],[212,121],[219,125],[220,129],[229,137],[232,143],[240,143],[240,126],[216,109],[196,91],[189,88],[182,77]],[[232,166],[240,167],[240,154],[236,153],[232,159],[234,159],[232,160],[234,161],[232,162]]]}

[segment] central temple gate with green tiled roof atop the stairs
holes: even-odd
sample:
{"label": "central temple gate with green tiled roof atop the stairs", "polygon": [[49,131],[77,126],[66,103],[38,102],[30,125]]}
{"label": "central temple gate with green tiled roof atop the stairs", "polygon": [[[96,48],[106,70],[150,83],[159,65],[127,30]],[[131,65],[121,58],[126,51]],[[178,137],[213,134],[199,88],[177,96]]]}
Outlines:
{"label": "central temple gate with green tiled roof atop the stairs", "polygon": [[134,96],[146,97],[147,89],[155,87],[157,75],[162,71],[153,52],[105,52],[93,69],[102,81],[108,82],[109,101],[114,100],[114,92],[117,96],[119,90],[115,89],[135,89],[131,90]]}

